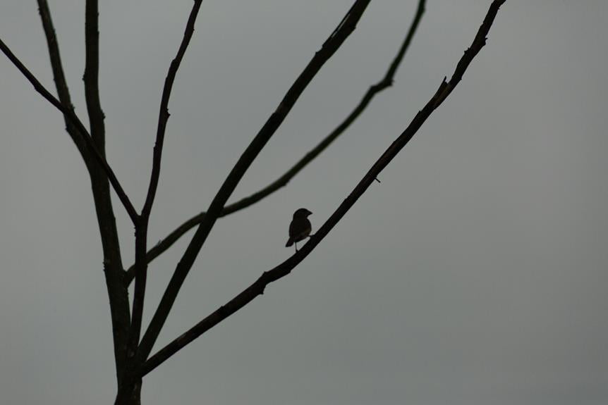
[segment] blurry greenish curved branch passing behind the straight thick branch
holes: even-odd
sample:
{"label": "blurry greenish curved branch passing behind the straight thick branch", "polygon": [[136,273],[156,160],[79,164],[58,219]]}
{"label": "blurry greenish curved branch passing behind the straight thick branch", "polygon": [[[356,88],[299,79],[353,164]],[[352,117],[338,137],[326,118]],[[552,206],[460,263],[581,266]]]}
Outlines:
{"label": "blurry greenish curved branch passing behind the straight thick branch", "polygon": [[[350,114],[348,114],[348,116],[346,116],[346,118],[340,123],[340,125],[338,125],[332,132],[330,132],[329,135],[327,135],[327,137],[325,137],[319,144],[317,144],[315,148],[311,149],[307,154],[305,154],[305,156],[301,158],[298,163],[296,163],[292,168],[287,170],[286,173],[281,175],[281,177],[274,180],[274,182],[270,183],[263,189],[260,189],[259,191],[251,194],[248,197],[240,199],[234,202],[233,204],[224,206],[224,209],[221,210],[221,214],[219,215],[220,217],[227,216],[236,211],[240,211],[243,208],[247,208],[248,206],[257,203],[257,201],[264,199],[269,194],[272,194],[277,190],[281,189],[281,187],[285,187],[293,177],[300,173],[303,168],[308,166],[308,163],[310,163],[317,156],[319,156],[322,151],[327,149],[327,147],[329,147],[329,145],[332,144],[332,142],[334,142],[337,137],[342,135],[343,132],[345,132],[348,127],[351,126],[351,124],[361,115],[361,113],[365,111],[365,108],[367,108],[367,106],[370,104],[376,94],[382,92],[382,90],[387,89],[393,84],[396,70],[397,68],[399,68],[401,61],[403,60],[403,56],[405,55],[411,43],[414,33],[418,28],[418,24],[420,23],[420,19],[422,18],[422,14],[425,11],[425,3],[426,0],[418,1],[418,9],[416,10],[410,29],[408,30],[408,34],[403,40],[403,44],[401,44],[401,47],[399,48],[399,51],[397,52],[395,58],[391,62],[387,73],[384,75],[382,80],[367,89],[367,92],[365,92],[365,95],[363,96],[361,101],[359,101],[359,104],[353,109],[353,111],[351,111]],[[175,242],[177,242],[180,237],[186,234],[188,230],[194,228],[196,225],[199,225],[202,222],[203,218],[205,218],[205,212],[198,213],[196,216],[193,216],[182,225],[179,225],[178,228],[176,228],[160,242],[158,242],[146,254],[146,260],[148,261],[148,263],[153,261],[154,258],[160,256],[162,253],[164,253],[164,251],[169,249],[169,247],[171,247]],[[133,281],[134,277],[135,265],[131,266],[127,270],[127,273],[125,275],[126,284],[129,285],[130,282]]]}

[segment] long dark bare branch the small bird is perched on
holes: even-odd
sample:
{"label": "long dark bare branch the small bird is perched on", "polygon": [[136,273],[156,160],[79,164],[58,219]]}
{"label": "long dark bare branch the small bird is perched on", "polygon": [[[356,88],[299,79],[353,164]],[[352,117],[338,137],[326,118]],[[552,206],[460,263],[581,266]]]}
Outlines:
{"label": "long dark bare branch the small bird is perched on", "polygon": [[399,137],[389,146],[389,148],[384,151],[384,154],[380,156],[380,158],[376,161],[374,166],[370,168],[370,170],[365,174],[363,179],[356,185],[353,189],[353,192],[346,197],[346,199],[340,204],[340,206],[334,211],[332,216],[325,221],[325,223],[321,226],[321,228],[315,233],[314,236],[310,237],[308,243],[306,243],[296,254],[293,254],[290,258],[288,258],[283,263],[279,264],[272,270],[268,270],[260,276],[252,285],[243,290],[236,297],[231,299],[224,306],[219,307],[216,311],[211,313],[207,318],[204,318],[199,323],[197,323],[193,328],[183,333],[183,335],[177,337],[171,343],[167,344],[164,348],[160,349],[154,356],[151,356],[139,370],[138,375],[143,376],[150,371],[157,368],[161,363],[169,359],[169,357],[176,354],[177,351],[185,347],[190,342],[193,342],[194,339],[207,332],[207,330],[213,328],[215,325],[220,323],[222,320],[228,318],[233,313],[243,308],[243,306],[247,305],[250,301],[255,299],[258,295],[264,293],[264,290],[267,285],[271,282],[279,280],[279,278],[283,278],[284,276],[291,273],[291,270],[295,268],[298,263],[304,260],[310,252],[315,249],[317,244],[319,244],[322,239],[327,236],[330,230],[334,228],[334,226],[341,220],[341,218],[346,214],[346,212],[355,204],[355,202],[363,195],[365,190],[367,190],[370,185],[375,181],[377,175],[390,163],[390,161],[399,154],[399,151],[406,146],[409,140],[418,132],[418,129],[425,123],[425,120],[431,115],[431,113],[442,104],[446,96],[448,96],[451,91],[458,85],[458,82],[462,79],[462,75],[465,72],[466,68],[473,61],[473,58],[478,54],[478,52],[485,45],[485,37],[494,22],[494,18],[497,15],[497,12],[500,6],[506,0],[494,0],[490,5],[490,10],[487,12],[485,19],[478,31],[478,34],[475,36],[473,40],[473,44],[465,51],[465,54],[462,56],[461,60],[458,62],[458,66],[456,66],[456,70],[454,71],[454,75],[452,75],[449,82],[446,82],[445,79],[442,84],[439,86],[437,92],[432,96],[430,101],[416,114],[416,116],[411,121],[410,125],[406,127]]}

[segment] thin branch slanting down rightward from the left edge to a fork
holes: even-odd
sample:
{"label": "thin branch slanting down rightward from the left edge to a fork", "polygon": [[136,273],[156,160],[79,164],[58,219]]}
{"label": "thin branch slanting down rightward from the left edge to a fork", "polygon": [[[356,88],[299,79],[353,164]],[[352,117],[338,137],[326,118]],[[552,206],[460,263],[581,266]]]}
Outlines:
{"label": "thin branch slanting down rightward from the left edge to a fork", "polygon": [[28,81],[32,84],[32,86],[34,86],[34,89],[37,92],[39,92],[45,99],[47,99],[47,101],[49,101],[49,103],[53,104],[53,106],[55,108],[57,108],[59,111],[61,111],[61,113],[63,113],[63,116],[66,116],[68,118],[68,120],[70,120],[70,122],[73,123],[73,125],[76,127],[78,132],[80,132],[80,134],[83,136],[83,139],[85,139],[87,148],[93,154],[93,156],[95,156],[97,163],[99,163],[99,165],[102,166],[104,172],[106,173],[106,175],[108,177],[108,180],[110,181],[112,187],[114,187],[114,191],[116,191],[116,194],[118,195],[118,199],[120,199],[121,202],[123,203],[123,206],[125,206],[125,209],[126,209],[127,213],[129,214],[129,217],[131,218],[133,223],[136,223],[138,220],[138,213],[135,211],[135,208],[133,208],[133,204],[131,204],[131,201],[127,197],[127,194],[125,193],[120,182],[118,182],[116,175],[114,175],[114,171],[110,168],[110,166],[107,163],[104,156],[102,156],[102,154],[97,150],[97,147],[95,147],[95,144],[93,144],[93,141],[92,141],[91,136],[89,135],[89,132],[85,128],[85,125],[83,125],[83,123],[80,121],[78,116],[76,116],[76,114],[74,113],[74,111],[72,111],[72,109],[70,107],[64,106],[63,104],[61,104],[61,101],[56,99],[56,97],[53,94],[51,94],[49,92],[49,90],[47,90],[42,85],[42,83],[39,82],[39,80],[37,80],[37,78],[30,72],[30,70],[28,70],[28,68],[26,68],[25,65],[23,65],[23,63],[21,63],[19,58],[17,58],[17,56],[15,56],[15,54],[13,54],[11,49],[8,48],[8,46],[6,46],[6,44],[4,43],[4,41],[2,41],[2,39],[0,39],[0,51],[2,51],[6,55],[8,60],[11,61],[13,63],[13,65],[15,65],[16,68],[18,68],[18,70],[21,73],[23,73],[25,78],[28,79]]}

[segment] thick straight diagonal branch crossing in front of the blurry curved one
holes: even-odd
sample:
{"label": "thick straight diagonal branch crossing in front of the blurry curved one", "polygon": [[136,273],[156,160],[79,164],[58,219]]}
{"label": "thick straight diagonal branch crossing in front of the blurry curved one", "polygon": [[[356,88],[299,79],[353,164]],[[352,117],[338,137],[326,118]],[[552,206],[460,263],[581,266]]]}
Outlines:
{"label": "thick straight diagonal branch crossing in front of the blurry curved one", "polygon": [[354,2],[351,9],[341,21],[339,27],[332,32],[332,35],[324,42],[322,48],[312,57],[308,66],[300,73],[296,81],[293,82],[293,85],[288,89],[284,98],[281,100],[281,103],[276,108],[276,111],[268,118],[265,125],[260,129],[260,132],[257,133],[253,141],[238,159],[236,165],[232,168],[228,177],[226,177],[226,180],[224,180],[224,184],[221,185],[212,203],[209,205],[207,215],[205,215],[205,218],[196,230],[193,239],[190,241],[190,244],[188,244],[186,252],[179,261],[176,270],[169,281],[169,285],[165,289],[160,304],[154,312],[154,316],[152,316],[150,325],[148,326],[145,335],[142,337],[142,342],[138,349],[138,359],[140,361],[147,359],[148,354],[152,351],[154,342],[156,342],[166,318],[169,316],[169,312],[181,289],[183,281],[186,280],[186,276],[188,275],[190,268],[192,268],[198,252],[205,243],[209,232],[211,232],[211,228],[217,218],[219,218],[222,209],[224,209],[224,204],[226,204],[226,201],[231,196],[236,185],[241,181],[241,178],[243,178],[243,175],[245,175],[245,172],[265,144],[272,135],[274,135],[274,132],[279,128],[279,125],[283,123],[283,120],[289,111],[291,111],[293,105],[296,104],[300,94],[302,94],[304,89],[308,86],[312,78],[315,77],[324,63],[334,55],[346,38],[351,35],[351,32],[355,30],[356,24],[369,3],[370,0],[356,0]]}

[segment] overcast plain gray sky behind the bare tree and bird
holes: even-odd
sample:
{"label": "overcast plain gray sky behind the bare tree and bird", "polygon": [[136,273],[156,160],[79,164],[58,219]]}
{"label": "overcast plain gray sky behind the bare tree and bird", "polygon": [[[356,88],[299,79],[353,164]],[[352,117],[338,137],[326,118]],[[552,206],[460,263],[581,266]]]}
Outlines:
{"label": "overcast plain gray sky behind the bare tree and bird", "polygon": [[[85,118],[83,3],[51,1]],[[108,160],[141,206],[162,82],[192,1],[103,1]],[[176,80],[150,245],[205,210],[351,0],[205,1]],[[290,167],[384,70],[417,1],[378,1],[233,199]],[[156,349],[287,258],[432,96],[490,1],[429,0],[394,87],[288,187],[219,220]],[[487,46],[288,277],[144,382],[144,404],[608,403],[608,2],[507,0]],[[49,88],[35,1],[0,37]],[[63,119],[0,58],[3,404],[109,404],[114,361],[90,184]],[[133,229],[117,200],[123,258]],[[190,235],[190,234],[189,234]],[[154,261],[145,322],[188,238]]]}

